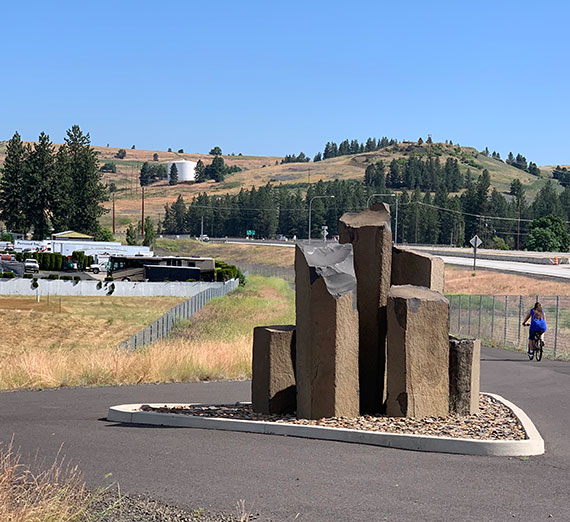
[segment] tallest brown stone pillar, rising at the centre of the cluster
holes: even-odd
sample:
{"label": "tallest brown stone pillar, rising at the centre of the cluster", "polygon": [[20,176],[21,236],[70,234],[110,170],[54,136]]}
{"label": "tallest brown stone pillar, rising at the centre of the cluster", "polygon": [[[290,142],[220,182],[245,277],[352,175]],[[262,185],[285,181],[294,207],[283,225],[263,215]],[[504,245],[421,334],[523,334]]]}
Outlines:
{"label": "tallest brown stone pillar, rising at the centre of the cluster", "polygon": [[392,231],[388,205],[344,214],[339,240],[351,243],[358,286],[360,412],[376,413],[384,401],[386,303],[390,291]]}

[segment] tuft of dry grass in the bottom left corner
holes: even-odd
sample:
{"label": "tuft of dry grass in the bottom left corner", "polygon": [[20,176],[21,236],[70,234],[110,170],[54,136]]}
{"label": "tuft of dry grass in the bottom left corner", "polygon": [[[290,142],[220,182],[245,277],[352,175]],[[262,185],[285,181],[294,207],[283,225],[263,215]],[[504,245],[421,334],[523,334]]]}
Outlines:
{"label": "tuft of dry grass in the bottom left corner", "polygon": [[20,463],[10,444],[0,448],[0,520],[9,522],[80,522],[96,494],[89,493],[76,467],[56,461],[45,471]]}

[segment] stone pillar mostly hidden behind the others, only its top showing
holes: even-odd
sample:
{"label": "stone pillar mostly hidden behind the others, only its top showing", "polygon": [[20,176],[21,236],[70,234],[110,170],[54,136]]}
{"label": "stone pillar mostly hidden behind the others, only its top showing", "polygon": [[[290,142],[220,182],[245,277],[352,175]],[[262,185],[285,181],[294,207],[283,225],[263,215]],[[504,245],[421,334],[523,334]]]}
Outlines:
{"label": "stone pillar mostly hidden behind the others, only its top showing", "polygon": [[392,285],[425,286],[443,292],[445,266],[440,257],[430,256],[408,248],[392,248]]}

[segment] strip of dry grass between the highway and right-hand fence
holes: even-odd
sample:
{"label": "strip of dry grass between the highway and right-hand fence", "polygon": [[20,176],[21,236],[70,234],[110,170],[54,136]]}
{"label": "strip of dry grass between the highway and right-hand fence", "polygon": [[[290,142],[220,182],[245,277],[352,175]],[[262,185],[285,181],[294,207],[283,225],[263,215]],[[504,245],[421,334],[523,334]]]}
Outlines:
{"label": "strip of dry grass between the highway and right-hand fence", "polygon": [[505,274],[493,270],[445,267],[445,291],[453,294],[570,296],[570,283]]}

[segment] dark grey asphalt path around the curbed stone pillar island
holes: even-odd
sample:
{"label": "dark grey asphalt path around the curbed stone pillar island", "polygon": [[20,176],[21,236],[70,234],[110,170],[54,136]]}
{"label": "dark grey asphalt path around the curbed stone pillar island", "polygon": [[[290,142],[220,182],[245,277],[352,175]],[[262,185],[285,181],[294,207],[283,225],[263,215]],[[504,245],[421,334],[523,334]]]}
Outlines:
{"label": "dark grey asphalt path around the curbed stone pillar island", "polygon": [[[58,452],[91,485],[118,481],[195,509],[258,521],[570,520],[570,364],[485,348],[481,388],[522,407],[546,442],[530,458],[420,453],[293,437],[103,420],[133,402],[249,400],[249,382],[0,393],[0,441],[25,461]],[[112,477],[105,478],[107,473]]]}

